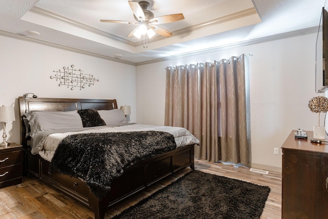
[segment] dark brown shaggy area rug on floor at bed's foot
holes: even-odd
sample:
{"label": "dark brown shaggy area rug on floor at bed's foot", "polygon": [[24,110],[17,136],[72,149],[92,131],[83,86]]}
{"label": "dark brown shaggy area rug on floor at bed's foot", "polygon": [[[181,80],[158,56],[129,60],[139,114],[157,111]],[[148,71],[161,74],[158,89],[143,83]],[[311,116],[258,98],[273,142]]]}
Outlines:
{"label": "dark brown shaggy area rug on floor at bed's foot", "polygon": [[191,171],[114,218],[260,218],[269,187]]}

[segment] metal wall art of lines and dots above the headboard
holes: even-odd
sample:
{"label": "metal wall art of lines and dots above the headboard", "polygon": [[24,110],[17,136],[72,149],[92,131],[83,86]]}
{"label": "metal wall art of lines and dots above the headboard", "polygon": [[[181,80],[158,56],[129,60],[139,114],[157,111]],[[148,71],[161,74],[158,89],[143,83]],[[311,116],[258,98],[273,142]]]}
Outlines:
{"label": "metal wall art of lines and dots above the headboard", "polygon": [[93,74],[86,74],[81,69],[74,69],[74,65],[53,72],[55,72],[55,75],[50,76],[50,78],[59,81],[58,86],[67,86],[71,90],[74,90],[74,88],[81,90],[86,86],[91,87],[95,82],[99,82],[99,79],[94,78]]}

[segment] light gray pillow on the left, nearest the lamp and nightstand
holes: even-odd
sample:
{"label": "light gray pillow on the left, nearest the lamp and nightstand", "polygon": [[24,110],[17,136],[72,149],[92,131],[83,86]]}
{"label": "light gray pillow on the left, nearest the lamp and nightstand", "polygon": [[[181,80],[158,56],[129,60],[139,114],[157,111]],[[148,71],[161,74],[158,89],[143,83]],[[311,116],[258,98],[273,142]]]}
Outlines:
{"label": "light gray pillow on the left, nearest the lamp and nightstand", "polygon": [[28,116],[31,137],[40,131],[67,128],[83,128],[82,120],[74,111],[32,111]]}

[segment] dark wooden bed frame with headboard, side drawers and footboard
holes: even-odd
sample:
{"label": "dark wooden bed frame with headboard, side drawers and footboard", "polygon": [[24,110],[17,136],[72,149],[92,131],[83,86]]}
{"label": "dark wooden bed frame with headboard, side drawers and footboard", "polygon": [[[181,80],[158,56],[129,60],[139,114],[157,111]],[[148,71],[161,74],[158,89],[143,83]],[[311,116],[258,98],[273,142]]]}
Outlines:
{"label": "dark wooden bed frame with headboard, side drawers and footboard", "polygon": [[111,110],[117,109],[116,99],[73,99],[73,98],[29,98],[18,97],[20,112],[20,136],[26,152],[25,171],[51,184],[66,195],[79,201],[94,211],[95,219],[103,219],[106,210],[127,197],[146,189],[162,178],[179,170],[194,169],[194,145],[187,145],[173,151],[150,158],[129,168],[116,178],[110,192],[101,200],[78,178],[61,173],[48,173],[50,162],[39,155],[32,155],[30,139],[26,138],[26,128],[22,116],[28,111],[69,111],[79,109]]}

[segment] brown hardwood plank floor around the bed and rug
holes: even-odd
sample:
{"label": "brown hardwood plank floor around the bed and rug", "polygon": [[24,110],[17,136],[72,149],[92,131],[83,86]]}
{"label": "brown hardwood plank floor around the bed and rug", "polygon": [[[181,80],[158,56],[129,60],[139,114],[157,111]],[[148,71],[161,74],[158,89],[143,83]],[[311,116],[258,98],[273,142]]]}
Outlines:
{"label": "brown hardwood plank floor around the bed and rug", "polygon": [[[269,171],[268,174],[261,174],[251,172],[248,167],[234,167],[234,165],[213,164],[198,160],[195,161],[195,168],[207,173],[269,186],[271,191],[261,218],[281,218],[281,173]],[[187,168],[167,177],[162,182],[109,209],[105,218],[111,218],[189,171],[191,169]],[[88,208],[81,206],[34,176],[25,176],[22,184],[0,189],[0,218],[93,218],[93,216],[93,212]]]}

